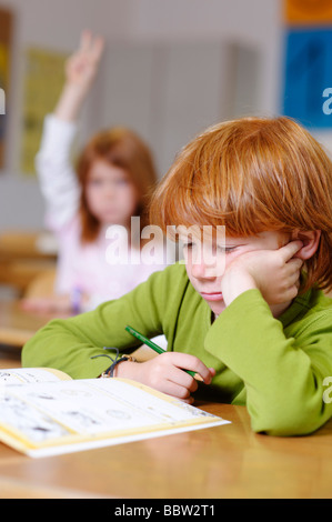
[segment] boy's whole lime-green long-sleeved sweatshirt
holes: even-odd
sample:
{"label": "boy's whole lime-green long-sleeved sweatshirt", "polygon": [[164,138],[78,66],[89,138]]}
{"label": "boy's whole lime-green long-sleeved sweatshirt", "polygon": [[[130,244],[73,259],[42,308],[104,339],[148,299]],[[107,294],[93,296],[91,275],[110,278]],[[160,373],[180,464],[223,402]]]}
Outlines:
{"label": "boy's whole lime-green long-sleeved sweatshirt", "polygon": [[[129,324],[148,338],[164,333],[168,350],[213,367],[212,384],[203,385],[210,398],[247,404],[256,432],[306,434],[330,419],[331,299],[310,290],[274,319],[260,291],[248,290],[211,322],[211,309],[185,267],[173,264],[119,300],[51,321],[26,344],[22,364],[95,378],[111,364],[104,357],[91,359],[104,354],[103,347],[128,353],[139,345],[124,330]],[[329,377],[331,383],[324,382]]]}

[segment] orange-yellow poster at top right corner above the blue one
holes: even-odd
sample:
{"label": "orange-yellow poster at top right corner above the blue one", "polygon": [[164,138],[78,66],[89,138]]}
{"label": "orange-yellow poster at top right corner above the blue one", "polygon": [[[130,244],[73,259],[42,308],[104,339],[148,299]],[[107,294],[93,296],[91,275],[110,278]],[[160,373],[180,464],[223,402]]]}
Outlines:
{"label": "orange-yellow poster at top right corner above the blue one", "polygon": [[332,24],[331,0],[284,0],[285,20],[293,24]]}

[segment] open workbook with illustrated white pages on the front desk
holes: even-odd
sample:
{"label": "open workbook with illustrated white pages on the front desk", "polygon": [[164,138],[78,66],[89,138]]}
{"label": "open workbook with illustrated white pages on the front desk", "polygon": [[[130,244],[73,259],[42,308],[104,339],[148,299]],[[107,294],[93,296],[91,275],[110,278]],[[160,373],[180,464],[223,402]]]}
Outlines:
{"label": "open workbook with illustrated white pages on the front desk", "polygon": [[0,441],[30,456],[228,422],[125,379],[72,380],[41,368],[0,370]]}

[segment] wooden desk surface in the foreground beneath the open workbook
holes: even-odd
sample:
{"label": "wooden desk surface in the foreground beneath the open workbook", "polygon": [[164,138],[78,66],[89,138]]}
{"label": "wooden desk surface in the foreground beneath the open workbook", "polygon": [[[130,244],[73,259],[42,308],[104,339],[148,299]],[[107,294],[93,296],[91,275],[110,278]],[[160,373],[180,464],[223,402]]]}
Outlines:
{"label": "wooden desk surface in the foreground beneath the open workbook", "polygon": [[332,496],[332,421],[314,435],[272,438],[250,430],[243,406],[202,408],[232,424],[38,460],[0,444],[0,496]]}

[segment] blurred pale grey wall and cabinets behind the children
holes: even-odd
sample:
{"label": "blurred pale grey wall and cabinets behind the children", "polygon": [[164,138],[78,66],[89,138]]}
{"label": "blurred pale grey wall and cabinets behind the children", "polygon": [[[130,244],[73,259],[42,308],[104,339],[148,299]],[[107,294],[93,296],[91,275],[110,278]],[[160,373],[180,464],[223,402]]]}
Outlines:
{"label": "blurred pale grey wall and cabinets behind the children", "polygon": [[[0,230],[43,225],[36,173],[22,159],[27,126],[36,126],[27,120],[32,49],[66,56],[82,29],[102,34],[107,50],[78,145],[100,128],[123,123],[151,145],[160,177],[207,126],[281,111],[282,0],[0,0],[1,8],[12,12],[13,27]],[[319,135],[329,145],[330,132]]]}

